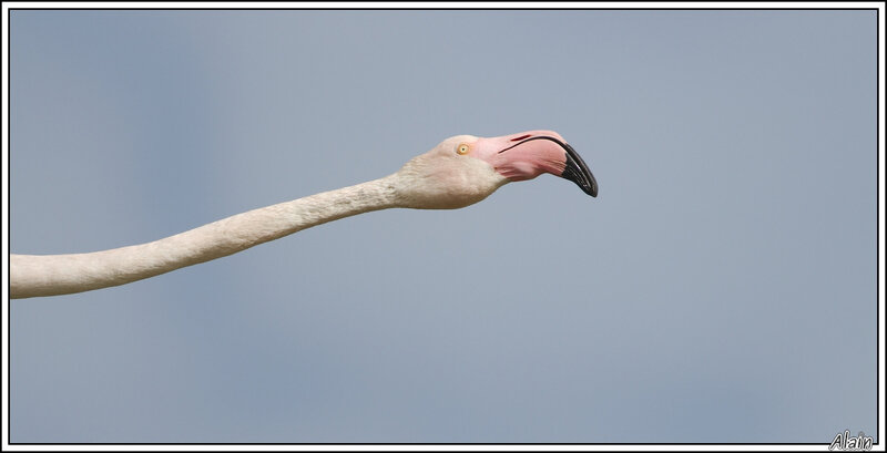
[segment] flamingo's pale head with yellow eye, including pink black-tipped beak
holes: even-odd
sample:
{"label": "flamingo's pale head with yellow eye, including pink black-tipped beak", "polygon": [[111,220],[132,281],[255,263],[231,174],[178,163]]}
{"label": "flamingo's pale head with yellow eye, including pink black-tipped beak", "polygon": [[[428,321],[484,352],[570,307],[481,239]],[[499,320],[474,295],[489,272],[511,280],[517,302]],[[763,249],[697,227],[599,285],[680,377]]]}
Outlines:
{"label": "flamingo's pale head with yellow eye, including pink black-tipped beak", "polygon": [[542,173],[570,179],[598,196],[598,182],[588,165],[553,131],[449,137],[404,165],[398,194],[406,207],[455,209],[480,202],[509,182]]}

